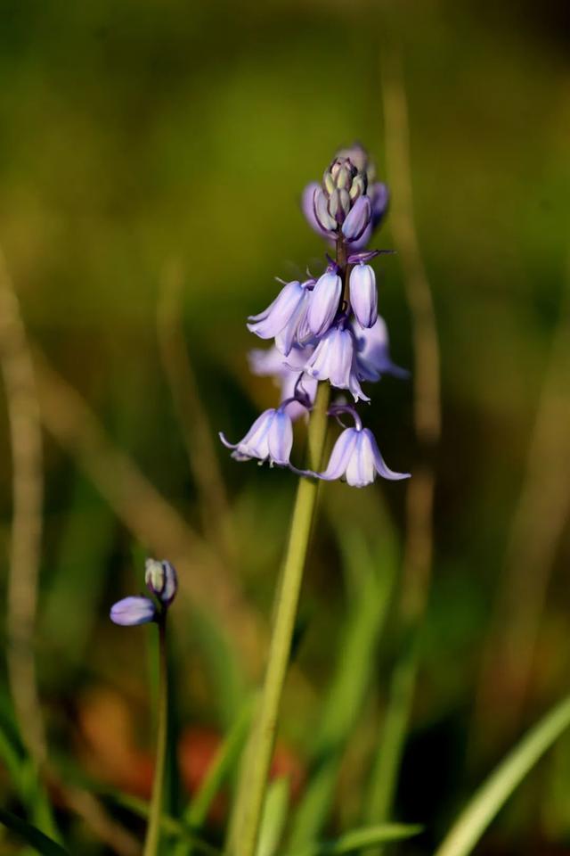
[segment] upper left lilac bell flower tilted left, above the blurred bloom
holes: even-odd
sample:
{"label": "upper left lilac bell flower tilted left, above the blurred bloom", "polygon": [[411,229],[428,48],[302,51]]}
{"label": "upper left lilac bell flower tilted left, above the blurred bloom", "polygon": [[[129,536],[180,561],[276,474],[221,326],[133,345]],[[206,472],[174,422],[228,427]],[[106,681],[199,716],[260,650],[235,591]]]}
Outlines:
{"label": "upper left lilac bell flower tilted left, above the blurred bloom", "polygon": [[248,330],[260,339],[273,339],[285,355],[297,342],[298,337],[310,335],[306,327],[306,310],[313,280],[299,283],[295,280],[281,289],[273,303],[258,315],[248,318]]}

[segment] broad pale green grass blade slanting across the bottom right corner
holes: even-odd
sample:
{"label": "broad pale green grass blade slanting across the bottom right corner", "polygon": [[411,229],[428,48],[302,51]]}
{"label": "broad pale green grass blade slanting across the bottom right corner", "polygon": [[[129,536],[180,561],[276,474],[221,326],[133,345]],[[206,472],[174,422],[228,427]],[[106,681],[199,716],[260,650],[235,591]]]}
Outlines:
{"label": "broad pale green grass blade slanting across the bottom right corner", "polygon": [[528,771],[569,726],[570,695],[531,728],[501,761],[461,812],[436,856],[467,856]]}

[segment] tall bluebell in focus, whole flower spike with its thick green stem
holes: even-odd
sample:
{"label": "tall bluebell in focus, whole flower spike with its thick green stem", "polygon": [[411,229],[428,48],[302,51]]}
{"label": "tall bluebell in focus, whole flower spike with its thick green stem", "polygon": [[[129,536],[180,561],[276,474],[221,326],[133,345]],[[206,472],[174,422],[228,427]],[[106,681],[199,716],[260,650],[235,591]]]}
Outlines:
{"label": "tall bluebell in focus, whole flower spike with its thick green stem", "polygon": [[[335,248],[326,255],[318,276],[305,282],[281,282],[281,291],[257,315],[248,329],[271,340],[269,350],[249,355],[255,374],[272,375],[281,388],[281,404],[265,410],[237,443],[220,438],[238,461],[288,467],[303,478],[289,530],[289,544],[273,613],[273,631],[265,682],[252,729],[243,774],[232,811],[227,856],[254,856],[267,776],[273,753],[281,693],[289,662],[291,638],[309,543],[319,481],[342,479],[362,488],[376,479],[396,481],[384,462],[369,428],[362,426],[353,406],[333,404],[330,393],[348,391],[354,402],[370,401],[361,383],[379,381],[383,374],[403,377],[391,361],[387,327],[378,311],[378,289],[371,260],[381,252],[366,250],[372,232],[387,211],[386,185],[375,181],[374,168],[360,145],[337,153],[322,177],[305,188],[303,210],[314,230]],[[327,420],[350,414],[354,427],[345,427],[322,465]],[[293,421],[307,414],[308,460],[305,470],[291,464]]]}

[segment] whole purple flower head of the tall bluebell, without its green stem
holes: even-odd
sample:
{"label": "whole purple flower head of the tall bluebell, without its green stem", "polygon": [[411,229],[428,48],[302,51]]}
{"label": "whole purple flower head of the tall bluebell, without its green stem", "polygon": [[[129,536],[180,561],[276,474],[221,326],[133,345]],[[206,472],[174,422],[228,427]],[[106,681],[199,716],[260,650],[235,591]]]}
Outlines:
{"label": "whole purple flower head of the tall bluebell, without its green stem", "polygon": [[283,283],[273,302],[248,318],[251,333],[274,340],[269,350],[252,351],[250,366],[281,385],[281,405],[258,416],[237,443],[220,435],[237,460],[256,458],[315,478],[343,478],[355,487],[370,484],[377,474],[392,480],[408,477],[387,467],[354,407],[338,402],[330,407],[330,416],[350,414],[354,428],[340,434],[324,472],[298,470],[290,462],[293,421],[312,409],[318,383],[349,391],[354,402],[370,401],[362,382],[407,374],[389,357],[387,327],[378,314],[376,275],[369,262],[382,251],[364,249],[387,202],[387,186],[374,181],[373,166],[359,145],[338,152],[322,183],[305,188],[305,218],[336,245],[337,258],[327,256],[320,276]]}

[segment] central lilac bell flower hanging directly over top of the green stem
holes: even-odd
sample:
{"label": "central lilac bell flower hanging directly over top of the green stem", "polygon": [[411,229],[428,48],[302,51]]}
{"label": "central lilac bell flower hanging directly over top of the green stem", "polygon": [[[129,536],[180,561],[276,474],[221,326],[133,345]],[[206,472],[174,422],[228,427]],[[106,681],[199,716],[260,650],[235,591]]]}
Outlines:
{"label": "central lilac bell flower hanging directly over top of the green stem", "polygon": [[306,374],[318,381],[329,380],[339,390],[349,390],[354,400],[370,401],[364,395],[355,367],[354,335],[343,324],[331,327],[305,366]]}

